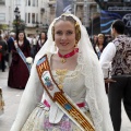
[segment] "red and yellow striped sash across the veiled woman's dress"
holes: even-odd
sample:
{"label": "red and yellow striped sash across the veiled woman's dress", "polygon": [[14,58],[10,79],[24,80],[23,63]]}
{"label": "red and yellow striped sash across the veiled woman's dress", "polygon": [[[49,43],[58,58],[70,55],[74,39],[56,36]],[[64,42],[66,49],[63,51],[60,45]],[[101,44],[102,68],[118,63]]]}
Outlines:
{"label": "red and yellow striped sash across the veiled woman's dress", "polygon": [[80,110],[72,99],[61,90],[53,80],[47,55],[36,66],[41,85],[53,103],[82,130],[95,131],[91,120]]}

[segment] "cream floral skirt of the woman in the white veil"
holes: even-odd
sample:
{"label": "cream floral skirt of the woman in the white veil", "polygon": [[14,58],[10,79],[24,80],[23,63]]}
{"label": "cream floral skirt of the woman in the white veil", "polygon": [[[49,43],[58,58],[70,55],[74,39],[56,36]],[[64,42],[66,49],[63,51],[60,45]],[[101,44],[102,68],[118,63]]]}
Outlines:
{"label": "cream floral skirt of the woman in the white veil", "polygon": [[[93,121],[90,111],[85,115]],[[67,115],[63,115],[59,123],[50,123],[49,108],[38,104],[21,131],[81,131],[81,129]]]}

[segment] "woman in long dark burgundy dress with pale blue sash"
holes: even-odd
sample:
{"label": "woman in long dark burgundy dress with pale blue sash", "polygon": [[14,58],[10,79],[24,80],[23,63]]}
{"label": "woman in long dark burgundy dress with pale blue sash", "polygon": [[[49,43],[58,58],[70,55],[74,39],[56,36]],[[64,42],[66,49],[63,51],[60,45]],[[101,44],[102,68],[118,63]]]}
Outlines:
{"label": "woman in long dark burgundy dress with pale blue sash", "polygon": [[[22,50],[25,58],[31,56],[29,43],[24,32],[19,33],[17,46]],[[28,69],[16,51],[15,46],[12,47],[12,62],[9,70],[8,86],[13,88],[25,88],[29,76]]]}

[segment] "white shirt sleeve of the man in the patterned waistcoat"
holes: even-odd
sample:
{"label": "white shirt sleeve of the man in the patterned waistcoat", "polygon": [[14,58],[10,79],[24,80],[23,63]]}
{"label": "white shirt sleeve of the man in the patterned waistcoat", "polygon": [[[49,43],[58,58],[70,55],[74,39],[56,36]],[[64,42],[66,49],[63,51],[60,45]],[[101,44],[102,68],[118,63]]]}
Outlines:
{"label": "white shirt sleeve of the man in the patterned waistcoat", "polygon": [[116,46],[112,41],[110,41],[102,52],[99,59],[105,79],[108,78],[108,70],[110,69],[110,64],[112,62],[115,55],[116,55]]}

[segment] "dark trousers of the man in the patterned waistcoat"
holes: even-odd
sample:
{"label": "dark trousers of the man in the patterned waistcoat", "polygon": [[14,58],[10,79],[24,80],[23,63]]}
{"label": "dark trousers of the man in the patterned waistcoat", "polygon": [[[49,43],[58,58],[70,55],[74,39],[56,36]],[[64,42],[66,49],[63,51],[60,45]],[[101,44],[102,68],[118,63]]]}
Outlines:
{"label": "dark trousers of the man in the patterned waistcoat", "polygon": [[110,116],[115,131],[121,128],[121,100],[131,121],[131,75],[112,76],[117,82],[109,85]]}

